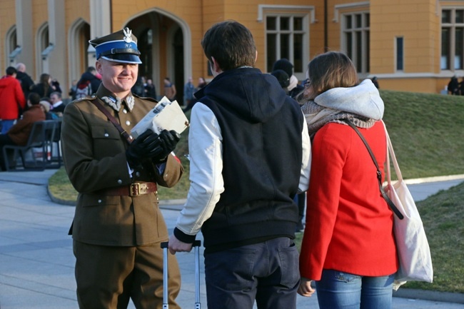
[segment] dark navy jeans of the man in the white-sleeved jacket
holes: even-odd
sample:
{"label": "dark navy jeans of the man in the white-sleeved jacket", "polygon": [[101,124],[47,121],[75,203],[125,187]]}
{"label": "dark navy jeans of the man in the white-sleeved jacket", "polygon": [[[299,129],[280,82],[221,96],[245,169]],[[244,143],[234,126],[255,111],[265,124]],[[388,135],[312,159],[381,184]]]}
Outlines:
{"label": "dark navy jeans of the man in the white-sleeved jacket", "polygon": [[296,308],[300,283],[293,240],[275,238],[205,255],[208,309]]}

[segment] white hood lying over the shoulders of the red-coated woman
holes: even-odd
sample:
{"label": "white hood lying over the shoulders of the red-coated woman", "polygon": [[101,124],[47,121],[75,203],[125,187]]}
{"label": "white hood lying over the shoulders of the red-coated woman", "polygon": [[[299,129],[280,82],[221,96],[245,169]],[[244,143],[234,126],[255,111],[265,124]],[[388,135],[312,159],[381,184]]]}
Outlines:
{"label": "white hood lying over the shoulders of the red-coated woman", "polygon": [[375,120],[382,119],[385,108],[378,89],[370,79],[365,79],[358,86],[329,89],[316,96],[314,101],[320,106],[355,113]]}

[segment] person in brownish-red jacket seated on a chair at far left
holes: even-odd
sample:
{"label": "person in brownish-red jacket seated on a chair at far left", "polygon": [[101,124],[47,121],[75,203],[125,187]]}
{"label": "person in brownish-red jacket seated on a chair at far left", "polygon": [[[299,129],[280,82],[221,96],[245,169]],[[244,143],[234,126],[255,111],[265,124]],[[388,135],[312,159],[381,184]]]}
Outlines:
{"label": "person in brownish-red jacket seated on a chair at far left", "polygon": [[24,146],[29,139],[29,134],[32,130],[32,125],[36,121],[45,120],[45,113],[41,108],[40,96],[38,93],[29,93],[27,97],[27,110],[23,113],[23,117],[12,126],[6,134],[0,134],[0,167],[1,171],[6,170],[4,162],[4,146],[19,145]]}

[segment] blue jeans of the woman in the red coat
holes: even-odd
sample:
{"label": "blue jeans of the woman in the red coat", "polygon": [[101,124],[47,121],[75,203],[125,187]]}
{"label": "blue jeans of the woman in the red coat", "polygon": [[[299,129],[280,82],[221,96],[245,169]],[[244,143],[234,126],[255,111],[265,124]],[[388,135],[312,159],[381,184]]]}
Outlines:
{"label": "blue jeans of the woman in the red coat", "polygon": [[393,275],[367,277],[324,269],[316,281],[321,309],[390,309]]}

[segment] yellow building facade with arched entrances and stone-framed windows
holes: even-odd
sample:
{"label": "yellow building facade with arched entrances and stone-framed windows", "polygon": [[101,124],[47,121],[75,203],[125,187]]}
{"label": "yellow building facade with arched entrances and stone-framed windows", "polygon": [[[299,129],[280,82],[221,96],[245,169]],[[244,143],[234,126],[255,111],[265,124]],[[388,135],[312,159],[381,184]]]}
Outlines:
{"label": "yellow building facade with arched entrances and stone-framed windows", "polygon": [[0,69],[18,63],[34,81],[42,73],[61,83],[95,65],[95,39],[125,26],[138,38],[140,75],[176,84],[211,80],[201,49],[205,31],[235,19],[251,29],[256,67],[271,73],[287,58],[303,81],[313,56],[344,51],[360,78],[381,88],[440,93],[464,76],[464,0],[0,0]]}

